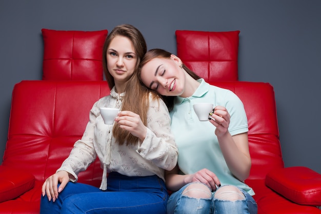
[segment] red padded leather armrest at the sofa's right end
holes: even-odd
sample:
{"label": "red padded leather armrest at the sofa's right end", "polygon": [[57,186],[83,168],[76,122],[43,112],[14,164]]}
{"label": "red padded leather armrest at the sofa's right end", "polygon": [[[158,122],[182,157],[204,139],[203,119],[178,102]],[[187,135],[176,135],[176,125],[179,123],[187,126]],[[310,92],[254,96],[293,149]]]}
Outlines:
{"label": "red padded leather armrest at the sofa's right end", "polygon": [[321,205],[321,174],[303,166],[270,171],[265,184],[285,198],[302,205]]}

